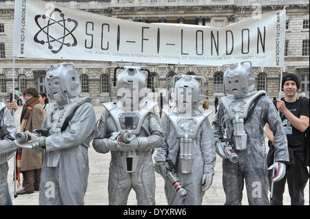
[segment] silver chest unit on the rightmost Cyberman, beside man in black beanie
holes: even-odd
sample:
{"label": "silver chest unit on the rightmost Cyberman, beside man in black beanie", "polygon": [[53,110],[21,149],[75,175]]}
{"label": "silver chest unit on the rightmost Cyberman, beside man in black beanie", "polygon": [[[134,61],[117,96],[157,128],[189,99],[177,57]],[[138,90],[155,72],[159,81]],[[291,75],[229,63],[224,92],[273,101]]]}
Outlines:
{"label": "silver chest unit on the rightmost Cyberman, beside man in black beanie", "polygon": [[247,148],[247,134],[245,133],[244,119],[247,117],[254,101],[265,93],[265,91],[256,91],[242,99],[234,99],[233,95],[220,98],[229,119],[234,125],[234,146],[236,150],[245,150]]}

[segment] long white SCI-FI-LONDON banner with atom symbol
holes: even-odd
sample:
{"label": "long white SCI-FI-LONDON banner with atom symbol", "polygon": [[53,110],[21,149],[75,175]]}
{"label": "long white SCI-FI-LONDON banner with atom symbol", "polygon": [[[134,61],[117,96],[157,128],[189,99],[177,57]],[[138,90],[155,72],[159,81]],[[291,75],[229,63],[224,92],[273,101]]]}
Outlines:
{"label": "long white SCI-FI-LONDON banner with atom symbol", "polygon": [[285,10],[216,28],[138,23],[15,0],[13,44],[15,57],[215,66],[247,60],[282,67]]}

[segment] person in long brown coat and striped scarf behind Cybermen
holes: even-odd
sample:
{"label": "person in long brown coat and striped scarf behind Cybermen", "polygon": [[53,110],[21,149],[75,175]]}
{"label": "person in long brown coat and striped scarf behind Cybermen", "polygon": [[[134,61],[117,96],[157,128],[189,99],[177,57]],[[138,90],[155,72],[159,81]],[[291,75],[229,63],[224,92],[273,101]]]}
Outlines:
{"label": "person in long brown coat and striped scarf behind Cybermen", "polygon": [[[29,87],[23,91],[25,105],[21,112],[21,132],[28,130],[33,132],[41,129],[44,121],[45,111],[39,101],[37,89]],[[41,168],[43,163],[43,152],[29,149],[21,149],[20,170],[23,173],[23,185],[17,194],[30,194],[39,191]]]}

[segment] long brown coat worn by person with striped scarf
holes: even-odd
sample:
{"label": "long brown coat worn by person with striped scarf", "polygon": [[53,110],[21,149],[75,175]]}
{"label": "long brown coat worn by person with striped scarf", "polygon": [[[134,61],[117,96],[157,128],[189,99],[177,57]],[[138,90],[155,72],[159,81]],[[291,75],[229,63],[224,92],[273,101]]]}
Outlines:
{"label": "long brown coat worn by person with striped scarf", "polygon": [[[35,104],[32,108],[25,130],[33,132],[34,129],[41,129],[44,121],[45,111],[41,104]],[[43,152],[35,150],[21,150],[21,171],[41,169],[43,163]]]}

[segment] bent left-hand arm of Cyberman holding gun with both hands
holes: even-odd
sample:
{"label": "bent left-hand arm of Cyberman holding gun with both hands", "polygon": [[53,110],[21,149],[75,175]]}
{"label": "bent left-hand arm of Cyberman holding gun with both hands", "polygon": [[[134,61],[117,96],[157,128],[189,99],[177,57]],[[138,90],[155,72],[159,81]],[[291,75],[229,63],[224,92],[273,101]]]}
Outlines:
{"label": "bent left-hand arm of Cyberman holding gun with both hands", "polygon": [[104,111],[99,120],[98,127],[96,128],[96,134],[94,140],[92,141],[92,146],[96,152],[107,153],[110,151],[116,151],[118,141],[113,138],[107,138],[108,129],[107,129],[107,111]]}

